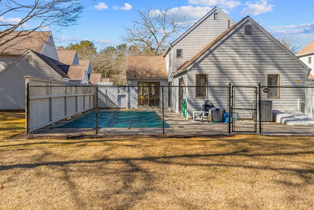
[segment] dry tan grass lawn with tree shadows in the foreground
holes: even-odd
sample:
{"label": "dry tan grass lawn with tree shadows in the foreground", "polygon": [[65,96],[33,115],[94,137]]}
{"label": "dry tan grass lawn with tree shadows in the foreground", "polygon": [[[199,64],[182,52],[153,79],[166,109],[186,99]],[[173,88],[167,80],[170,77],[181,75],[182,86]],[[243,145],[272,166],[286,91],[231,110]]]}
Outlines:
{"label": "dry tan grass lawn with tree shadows in the foreground", "polygon": [[0,209],[314,209],[313,137],[22,135],[0,154]]}

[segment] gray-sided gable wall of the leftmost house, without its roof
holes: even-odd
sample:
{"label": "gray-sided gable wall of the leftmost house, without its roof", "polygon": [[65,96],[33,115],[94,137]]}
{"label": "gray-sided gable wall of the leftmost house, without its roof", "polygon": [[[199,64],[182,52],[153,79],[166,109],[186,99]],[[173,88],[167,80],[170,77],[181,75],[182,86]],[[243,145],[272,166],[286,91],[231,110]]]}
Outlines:
{"label": "gray-sided gable wall of the leftmost house, without its roof", "polygon": [[37,56],[32,54],[32,60],[26,61],[26,55],[0,72],[0,109],[25,109],[24,76],[62,80],[59,74]]}

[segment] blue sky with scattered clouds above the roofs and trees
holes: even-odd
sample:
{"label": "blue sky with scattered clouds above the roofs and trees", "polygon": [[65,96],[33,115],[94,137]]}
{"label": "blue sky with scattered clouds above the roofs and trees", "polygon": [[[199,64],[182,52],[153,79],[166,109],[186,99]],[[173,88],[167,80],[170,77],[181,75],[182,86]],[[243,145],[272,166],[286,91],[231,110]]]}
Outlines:
{"label": "blue sky with scattered clouds above the roofs and trees", "polygon": [[[235,22],[250,16],[275,38],[294,37],[301,50],[314,40],[314,0],[78,0],[84,5],[77,25],[52,31],[56,46],[88,40],[97,50],[123,43],[124,27],[131,26],[139,9],[169,7],[195,23],[218,6]],[[19,18],[0,17],[0,19]]]}

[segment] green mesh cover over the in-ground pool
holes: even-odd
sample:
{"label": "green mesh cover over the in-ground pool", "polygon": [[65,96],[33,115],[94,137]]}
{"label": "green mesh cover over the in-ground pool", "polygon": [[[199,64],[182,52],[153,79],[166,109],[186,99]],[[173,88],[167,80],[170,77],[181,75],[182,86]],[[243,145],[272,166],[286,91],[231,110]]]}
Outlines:
{"label": "green mesh cover over the in-ground pool", "polygon": [[[83,116],[77,120],[63,124],[63,128],[95,128],[96,112]],[[145,111],[99,111],[99,128],[140,128],[140,127],[162,127],[162,119],[156,112]],[[164,122],[164,127],[170,127]]]}

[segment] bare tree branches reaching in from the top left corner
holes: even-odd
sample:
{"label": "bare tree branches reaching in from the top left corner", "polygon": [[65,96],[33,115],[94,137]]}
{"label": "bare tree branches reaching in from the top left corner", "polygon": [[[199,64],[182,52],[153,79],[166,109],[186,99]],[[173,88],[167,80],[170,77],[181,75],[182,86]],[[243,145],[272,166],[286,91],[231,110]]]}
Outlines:
{"label": "bare tree branches reaching in from the top left corner", "polygon": [[0,53],[8,43],[33,31],[60,31],[75,25],[83,8],[77,0],[0,0]]}

